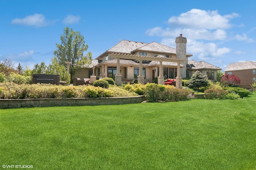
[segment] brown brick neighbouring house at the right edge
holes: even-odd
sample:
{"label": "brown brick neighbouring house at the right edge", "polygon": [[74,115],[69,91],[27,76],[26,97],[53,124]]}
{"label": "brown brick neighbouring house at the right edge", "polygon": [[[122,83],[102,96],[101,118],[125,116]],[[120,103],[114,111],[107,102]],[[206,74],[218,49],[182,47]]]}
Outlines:
{"label": "brown brick neighbouring house at the right edge", "polygon": [[256,62],[244,61],[238,63],[231,63],[227,66],[225,74],[234,74],[240,78],[239,87],[250,89],[256,78]]}

